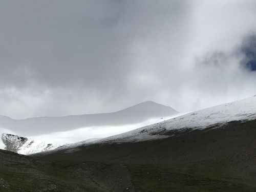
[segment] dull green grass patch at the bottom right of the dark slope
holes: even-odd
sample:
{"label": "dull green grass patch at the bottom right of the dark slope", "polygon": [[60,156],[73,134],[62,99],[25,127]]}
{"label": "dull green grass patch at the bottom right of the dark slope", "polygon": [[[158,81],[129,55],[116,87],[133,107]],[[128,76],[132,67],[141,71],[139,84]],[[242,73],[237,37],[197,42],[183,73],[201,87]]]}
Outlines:
{"label": "dull green grass patch at the bottom right of the dark slope", "polygon": [[231,176],[209,161],[188,164],[127,164],[132,182],[141,191],[256,191],[256,183]]}

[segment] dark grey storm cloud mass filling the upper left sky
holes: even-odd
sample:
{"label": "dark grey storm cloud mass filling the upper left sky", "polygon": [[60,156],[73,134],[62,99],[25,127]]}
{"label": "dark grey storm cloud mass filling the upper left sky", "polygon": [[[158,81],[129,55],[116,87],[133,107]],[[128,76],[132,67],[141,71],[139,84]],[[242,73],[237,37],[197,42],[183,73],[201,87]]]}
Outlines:
{"label": "dark grey storm cloud mass filling the upper left sky", "polygon": [[[156,31],[172,22],[163,17],[179,16],[184,5],[165,6],[124,1],[1,2],[2,86],[22,87],[31,81],[50,88],[74,83],[100,89],[121,85],[133,66],[134,41],[157,40]],[[170,32],[168,27],[161,33]]]}

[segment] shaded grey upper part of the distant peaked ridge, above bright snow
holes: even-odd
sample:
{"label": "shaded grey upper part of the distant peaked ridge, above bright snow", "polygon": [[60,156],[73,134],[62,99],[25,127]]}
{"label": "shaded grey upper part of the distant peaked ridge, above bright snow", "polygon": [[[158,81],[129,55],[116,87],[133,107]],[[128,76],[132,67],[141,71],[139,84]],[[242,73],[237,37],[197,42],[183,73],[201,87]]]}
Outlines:
{"label": "shaded grey upper part of the distant peaked ridge, above bright snow", "polygon": [[[145,104],[147,105],[144,106]],[[143,109],[139,111],[138,107],[141,107],[142,105]],[[58,131],[68,131],[88,126],[140,123],[151,118],[167,117],[178,114],[178,112],[172,108],[155,102],[143,102],[142,105],[137,104],[121,111],[102,114],[35,117],[20,120],[6,118],[4,116],[4,119],[2,119],[2,121],[0,120],[0,127],[17,132],[17,134],[38,135]],[[147,111],[146,109],[150,110]]]}

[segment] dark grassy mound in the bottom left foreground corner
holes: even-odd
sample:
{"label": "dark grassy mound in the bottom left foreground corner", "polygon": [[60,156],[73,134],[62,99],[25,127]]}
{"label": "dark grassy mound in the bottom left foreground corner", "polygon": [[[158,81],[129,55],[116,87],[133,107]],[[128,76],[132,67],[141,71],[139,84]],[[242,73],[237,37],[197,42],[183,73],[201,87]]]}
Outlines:
{"label": "dark grassy mound in the bottom left foreground corner", "polygon": [[0,191],[108,191],[53,162],[0,151]]}

